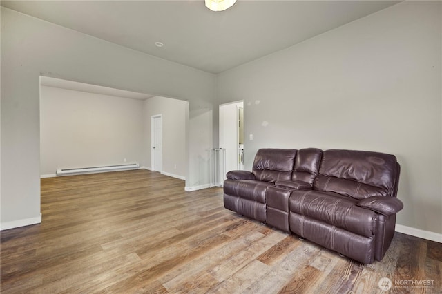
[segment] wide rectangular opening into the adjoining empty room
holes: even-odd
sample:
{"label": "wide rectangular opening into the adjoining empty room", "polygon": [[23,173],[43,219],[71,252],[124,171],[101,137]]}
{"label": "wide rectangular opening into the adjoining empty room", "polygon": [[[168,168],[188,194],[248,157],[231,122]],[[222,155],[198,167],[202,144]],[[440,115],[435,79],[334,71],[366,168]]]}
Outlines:
{"label": "wide rectangular opening into the adjoining empty room", "polygon": [[40,178],[135,164],[189,177],[188,101],[41,76],[39,105]]}

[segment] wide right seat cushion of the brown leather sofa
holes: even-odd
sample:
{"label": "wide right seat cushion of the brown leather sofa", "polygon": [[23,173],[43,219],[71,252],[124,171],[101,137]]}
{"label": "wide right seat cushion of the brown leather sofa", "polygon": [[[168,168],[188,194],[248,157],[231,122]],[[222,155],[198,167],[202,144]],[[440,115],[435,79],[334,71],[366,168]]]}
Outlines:
{"label": "wide right seat cushion of the brown leather sofa", "polygon": [[374,234],[376,213],[356,206],[358,200],[338,193],[322,191],[293,191],[289,209],[301,216],[320,220],[358,235]]}

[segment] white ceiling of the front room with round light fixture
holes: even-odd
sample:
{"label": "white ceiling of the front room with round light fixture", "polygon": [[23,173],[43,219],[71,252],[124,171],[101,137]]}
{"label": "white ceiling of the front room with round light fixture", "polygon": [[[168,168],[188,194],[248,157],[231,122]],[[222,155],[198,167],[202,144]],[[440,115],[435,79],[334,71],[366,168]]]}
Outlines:
{"label": "white ceiling of the front room with round light fixture", "polygon": [[[1,6],[218,74],[399,1],[1,1]],[[157,48],[155,42],[164,43]]]}

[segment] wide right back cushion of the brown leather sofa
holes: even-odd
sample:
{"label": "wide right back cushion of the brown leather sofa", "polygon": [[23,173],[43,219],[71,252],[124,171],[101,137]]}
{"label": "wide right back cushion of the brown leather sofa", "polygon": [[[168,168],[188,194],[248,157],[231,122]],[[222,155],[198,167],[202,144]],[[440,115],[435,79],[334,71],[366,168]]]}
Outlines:
{"label": "wide right back cushion of the brown leather sofa", "polygon": [[396,157],[370,151],[327,150],[320,162],[314,189],[364,199],[392,196],[398,164]]}

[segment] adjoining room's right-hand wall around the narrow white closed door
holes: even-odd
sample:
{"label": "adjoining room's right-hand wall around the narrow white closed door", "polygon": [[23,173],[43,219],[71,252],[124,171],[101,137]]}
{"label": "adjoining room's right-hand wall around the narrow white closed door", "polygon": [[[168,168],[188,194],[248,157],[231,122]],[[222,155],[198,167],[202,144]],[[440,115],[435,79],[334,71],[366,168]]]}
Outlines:
{"label": "adjoining room's right-hand wall around the narrow white closed door", "polygon": [[151,116],[162,115],[162,174],[186,177],[186,116],[189,103],[155,96],[144,101],[144,158],[151,169]]}

